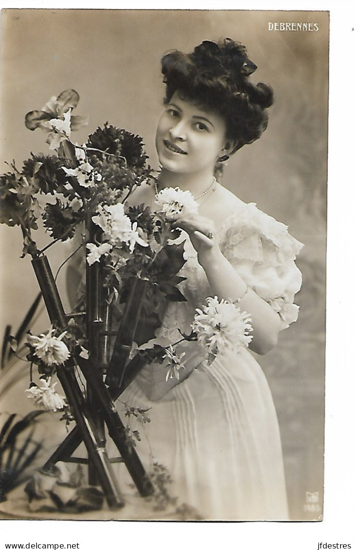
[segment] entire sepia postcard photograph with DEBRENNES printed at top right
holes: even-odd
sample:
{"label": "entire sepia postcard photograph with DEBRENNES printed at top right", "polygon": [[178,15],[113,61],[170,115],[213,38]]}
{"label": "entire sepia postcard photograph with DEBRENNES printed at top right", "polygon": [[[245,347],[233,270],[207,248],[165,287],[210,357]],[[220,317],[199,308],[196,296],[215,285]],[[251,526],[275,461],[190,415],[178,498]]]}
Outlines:
{"label": "entire sepia postcard photograph with DEBRENNES printed at top right", "polygon": [[329,30],[2,9],[2,520],[323,521]]}

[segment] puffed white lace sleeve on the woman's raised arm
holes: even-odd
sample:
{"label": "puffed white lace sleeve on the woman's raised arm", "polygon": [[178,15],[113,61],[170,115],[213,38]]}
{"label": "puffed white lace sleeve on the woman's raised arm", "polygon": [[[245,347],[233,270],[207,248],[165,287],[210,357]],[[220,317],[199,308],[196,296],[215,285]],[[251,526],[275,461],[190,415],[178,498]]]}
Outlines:
{"label": "puffed white lace sleeve on the woman's raised arm", "polygon": [[287,328],[298,317],[294,295],[302,285],[302,274],[295,258],[303,244],[288,233],[287,226],[254,203],[242,203],[221,230],[223,255],[248,286],[279,313],[281,329]]}

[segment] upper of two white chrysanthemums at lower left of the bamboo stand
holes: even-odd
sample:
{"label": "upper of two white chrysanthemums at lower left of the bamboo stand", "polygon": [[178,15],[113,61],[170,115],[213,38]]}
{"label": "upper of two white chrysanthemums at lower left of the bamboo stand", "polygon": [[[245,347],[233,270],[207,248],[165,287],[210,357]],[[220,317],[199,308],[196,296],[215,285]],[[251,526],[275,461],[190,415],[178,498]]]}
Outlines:
{"label": "upper of two white chrysanthemums at lower left of the bamboo stand", "polygon": [[40,336],[27,335],[29,344],[35,349],[35,354],[46,365],[61,365],[70,357],[67,345],[62,342],[66,332],[60,336],[54,336],[56,329],[51,328],[47,333]]}

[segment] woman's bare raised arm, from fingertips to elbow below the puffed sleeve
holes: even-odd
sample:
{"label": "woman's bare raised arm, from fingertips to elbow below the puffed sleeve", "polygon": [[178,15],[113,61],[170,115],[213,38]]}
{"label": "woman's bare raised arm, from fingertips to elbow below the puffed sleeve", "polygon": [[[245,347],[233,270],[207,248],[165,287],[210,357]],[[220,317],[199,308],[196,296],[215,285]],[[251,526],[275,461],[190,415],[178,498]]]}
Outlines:
{"label": "woman's bare raised arm, from fingertips to elbow below the puffed sleeve", "polygon": [[[213,223],[197,216],[189,220],[180,219],[175,225],[189,234],[212,294],[220,299],[239,300],[237,305],[242,311],[248,312],[254,329],[249,348],[260,355],[274,348],[281,328],[280,316],[251,288],[247,290],[247,284],[223,256],[214,236]],[[212,238],[207,237],[209,233],[212,233]]]}

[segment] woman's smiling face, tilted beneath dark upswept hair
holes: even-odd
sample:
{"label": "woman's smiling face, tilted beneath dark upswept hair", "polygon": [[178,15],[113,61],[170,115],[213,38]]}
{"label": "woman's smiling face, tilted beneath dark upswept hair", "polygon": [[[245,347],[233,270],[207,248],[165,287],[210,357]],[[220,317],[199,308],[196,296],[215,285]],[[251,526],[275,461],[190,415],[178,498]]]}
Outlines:
{"label": "woman's smiling face, tilted beneath dark upswept hair", "polygon": [[224,119],[182,100],[176,92],[157,125],[156,149],[162,168],[212,173],[225,144]]}

